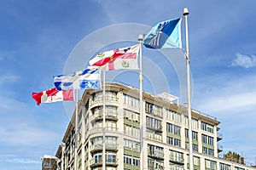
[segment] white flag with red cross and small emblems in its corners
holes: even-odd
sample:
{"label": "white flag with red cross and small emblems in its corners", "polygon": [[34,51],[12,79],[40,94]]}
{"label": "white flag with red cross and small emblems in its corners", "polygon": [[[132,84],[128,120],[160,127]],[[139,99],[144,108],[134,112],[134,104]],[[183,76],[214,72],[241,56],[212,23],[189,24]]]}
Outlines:
{"label": "white flag with red cross and small emblems in its corners", "polygon": [[118,48],[104,53],[97,54],[95,58],[90,59],[89,64],[92,67],[100,67],[103,71],[131,69],[138,70],[137,55],[139,44]]}

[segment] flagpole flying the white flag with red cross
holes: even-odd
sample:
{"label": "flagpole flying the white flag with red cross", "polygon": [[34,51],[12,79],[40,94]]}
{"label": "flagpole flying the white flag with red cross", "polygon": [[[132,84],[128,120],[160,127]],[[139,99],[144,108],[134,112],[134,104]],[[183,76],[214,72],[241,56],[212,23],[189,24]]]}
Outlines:
{"label": "flagpole flying the white flag with red cross", "polygon": [[139,35],[138,41],[140,43],[140,170],[143,170],[143,35]]}

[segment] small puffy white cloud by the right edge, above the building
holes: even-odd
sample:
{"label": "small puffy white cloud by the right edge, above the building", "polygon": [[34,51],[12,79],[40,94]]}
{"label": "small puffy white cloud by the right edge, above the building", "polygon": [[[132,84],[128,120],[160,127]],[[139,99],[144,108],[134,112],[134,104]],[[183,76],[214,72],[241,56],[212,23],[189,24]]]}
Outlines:
{"label": "small puffy white cloud by the right edge, above the building", "polygon": [[236,54],[236,59],[232,61],[232,66],[250,68],[256,65],[256,55]]}

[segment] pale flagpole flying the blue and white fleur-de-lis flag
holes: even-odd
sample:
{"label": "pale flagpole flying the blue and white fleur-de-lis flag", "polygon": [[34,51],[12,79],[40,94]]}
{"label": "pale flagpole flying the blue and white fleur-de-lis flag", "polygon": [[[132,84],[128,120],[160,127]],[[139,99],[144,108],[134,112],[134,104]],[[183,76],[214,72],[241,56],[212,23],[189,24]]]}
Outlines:
{"label": "pale flagpole flying the blue and white fleur-de-lis flag", "polygon": [[103,71],[103,137],[102,137],[102,169],[106,169],[106,147],[105,147],[105,135],[106,135],[106,71]]}

